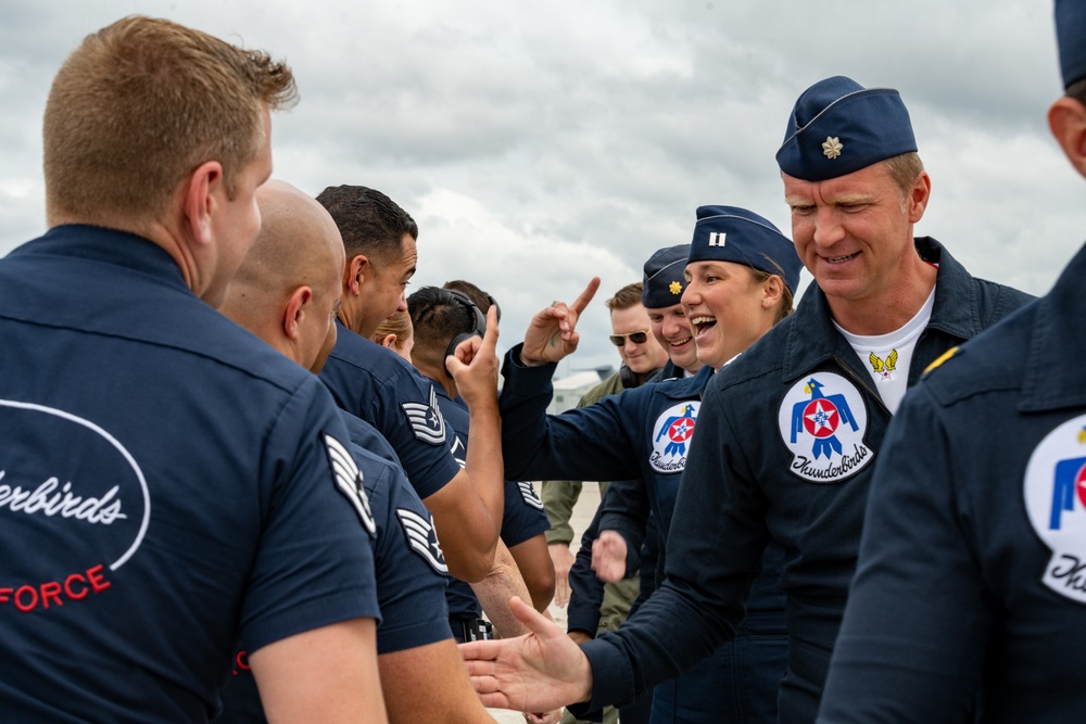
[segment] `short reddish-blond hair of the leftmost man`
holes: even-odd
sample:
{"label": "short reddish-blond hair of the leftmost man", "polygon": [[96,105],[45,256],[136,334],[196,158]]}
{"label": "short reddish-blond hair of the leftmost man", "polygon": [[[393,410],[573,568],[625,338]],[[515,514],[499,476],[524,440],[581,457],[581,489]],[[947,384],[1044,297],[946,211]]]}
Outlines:
{"label": "short reddish-blond hair of the leftmost man", "polygon": [[159,219],[207,161],[229,196],[260,154],[263,109],[298,100],[283,63],[200,30],[131,15],[87,36],[53,80],[46,203],[78,218]]}

